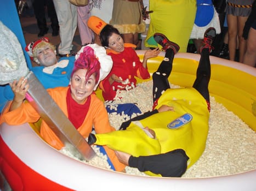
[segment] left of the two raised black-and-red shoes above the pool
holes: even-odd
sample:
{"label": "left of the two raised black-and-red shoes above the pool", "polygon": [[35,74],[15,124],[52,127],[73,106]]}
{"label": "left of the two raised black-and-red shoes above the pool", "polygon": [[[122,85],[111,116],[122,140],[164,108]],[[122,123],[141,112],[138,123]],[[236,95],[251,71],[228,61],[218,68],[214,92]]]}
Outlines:
{"label": "left of the two raised black-and-red shoes above the pool", "polygon": [[153,37],[156,42],[163,47],[162,50],[164,51],[166,51],[167,49],[173,49],[174,53],[177,53],[180,50],[180,46],[168,40],[168,38],[164,34],[155,33]]}

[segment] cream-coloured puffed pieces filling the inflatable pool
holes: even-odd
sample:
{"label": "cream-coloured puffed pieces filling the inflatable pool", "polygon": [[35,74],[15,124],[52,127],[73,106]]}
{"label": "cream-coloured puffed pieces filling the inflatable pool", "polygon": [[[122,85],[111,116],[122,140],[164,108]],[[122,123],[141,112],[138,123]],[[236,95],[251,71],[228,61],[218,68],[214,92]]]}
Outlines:
{"label": "cream-coloured puffed pieces filling the inflatable pool", "polygon": [[[171,85],[171,88],[179,86]],[[122,99],[119,99],[122,97]],[[211,99],[211,114],[209,118],[209,134],[206,149],[200,159],[192,165],[183,177],[210,177],[236,174],[256,168],[256,133],[233,112],[228,111],[222,104]],[[129,91],[118,92],[112,104],[136,103],[144,113],[152,109],[152,81],[139,83]],[[109,103],[106,103],[109,104]],[[134,114],[136,116],[138,114]],[[134,117],[132,116],[132,117]],[[129,116],[116,113],[109,115],[110,123],[118,129]],[[85,162],[100,168],[110,169],[106,156],[99,153],[93,146],[98,157]],[[62,149],[62,153],[64,153]],[[65,154],[65,153],[64,153]],[[72,157],[72,156],[71,156]],[[77,159],[79,160],[79,159]],[[104,161],[105,160],[105,161]],[[147,176],[138,169],[126,167],[126,172],[133,175]]]}

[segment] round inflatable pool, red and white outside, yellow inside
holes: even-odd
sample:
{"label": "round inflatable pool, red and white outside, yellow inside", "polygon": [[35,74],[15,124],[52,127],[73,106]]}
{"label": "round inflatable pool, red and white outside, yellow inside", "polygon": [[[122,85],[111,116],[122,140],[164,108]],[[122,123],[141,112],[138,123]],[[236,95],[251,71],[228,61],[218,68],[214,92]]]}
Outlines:
{"label": "round inflatable pool, red and white outside, yellow inside", "polygon": [[[143,55],[144,51],[138,51]],[[150,73],[163,59],[163,52],[150,59]],[[142,56],[141,56],[142,57]],[[177,53],[171,83],[191,86],[200,55]],[[256,69],[210,57],[209,91],[217,102],[233,111],[256,131]],[[98,92],[97,94],[100,94]],[[32,128],[31,128],[32,127]],[[123,174],[96,168],[61,154],[46,144],[32,124],[0,128],[1,171],[13,190],[255,190],[256,169],[206,178],[166,178]]]}

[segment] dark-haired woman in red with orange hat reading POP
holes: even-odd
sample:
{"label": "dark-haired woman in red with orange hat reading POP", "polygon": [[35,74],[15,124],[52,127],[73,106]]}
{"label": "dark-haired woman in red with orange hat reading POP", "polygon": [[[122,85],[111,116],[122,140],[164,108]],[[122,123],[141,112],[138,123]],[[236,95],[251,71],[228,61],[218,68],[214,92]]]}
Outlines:
{"label": "dark-haired woman in red with orange hat reading POP", "polygon": [[135,45],[124,43],[118,29],[99,17],[91,16],[88,20],[88,27],[100,36],[101,45],[106,47],[107,54],[112,57],[113,68],[110,74],[100,82],[99,87],[103,90],[105,101],[113,100],[118,90],[125,90],[136,87],[135,77],[149,79],[147,60],[156,57],[160,50],[147,50],[143,62],[134,51]]}

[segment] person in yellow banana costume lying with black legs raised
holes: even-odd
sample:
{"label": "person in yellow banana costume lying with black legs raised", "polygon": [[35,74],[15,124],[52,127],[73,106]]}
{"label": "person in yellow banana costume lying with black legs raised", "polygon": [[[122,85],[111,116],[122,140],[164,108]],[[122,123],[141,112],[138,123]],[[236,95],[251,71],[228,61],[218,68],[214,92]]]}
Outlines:
{"label": "person in yellow banana costume lying with black legs raised", "polygon": [[116,132],[90,134],[88,143],[109,146],[123,164],[148,175],[182,176],[200,158],[206,146],[211,109],[209,53],[215,35],[214,28],[204,33],[194,85],[171,89],[168,77],[179,45],[156,33],[154,39],[166,54],[152,75],[153,110],[124,122]]}

